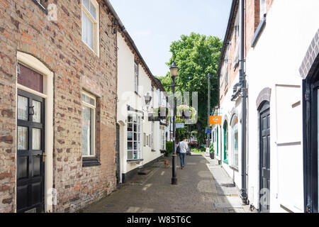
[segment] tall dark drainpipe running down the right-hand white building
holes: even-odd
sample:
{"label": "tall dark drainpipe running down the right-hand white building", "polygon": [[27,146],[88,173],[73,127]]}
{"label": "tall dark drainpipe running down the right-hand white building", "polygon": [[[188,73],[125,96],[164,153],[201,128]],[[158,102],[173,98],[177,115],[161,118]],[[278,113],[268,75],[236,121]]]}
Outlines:
{"label": "tall dark drainpipe running down the right-hand white building", "polygon": [[245,74],[245,1],[240,0],[240,90],[242,96],[242,189],[240,196],[242,203],[247,204],[247,180],[246,180],[246,150],[247,150],[247,87],[246,87],[246,74]]}

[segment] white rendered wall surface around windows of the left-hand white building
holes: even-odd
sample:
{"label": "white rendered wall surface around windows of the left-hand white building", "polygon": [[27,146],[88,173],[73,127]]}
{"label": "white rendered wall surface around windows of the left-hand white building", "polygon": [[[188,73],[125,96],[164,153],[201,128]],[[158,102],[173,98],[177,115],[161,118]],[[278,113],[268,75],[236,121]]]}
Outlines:
{"label": "white rendered wall surface around windows of the left-hand white building", "polygon": [[[128,163],[127,157],[127,119],[128,119],[128,105],[133,109],[142,111],[145,106],[144,95],[147,92],[151,92],[152,84],[150,77],[139,65],[139,89],[138,94],[135,94],[135,77],[134,77],[134,55],[125,40],[118,33],[118,114],[117,121],[121,125],[121,162],[122,173],[130,172],[137,167],[147,164],[148,162],[160,157],[160,151],[157,148],[159,144],[159,123],[155,123],[155,151],[148,145],[143,145],[143,135],[152,135],[152,122],[148,121],[148,116],[144,114],[144,120],[142,120],[142,162]],[[156,89],[156,88],[155,88]],[[152,97],[157,100],[157,95]],[[140,114],[143,116],[143,114]],[[122,123],[122,124],[121,124]]]}

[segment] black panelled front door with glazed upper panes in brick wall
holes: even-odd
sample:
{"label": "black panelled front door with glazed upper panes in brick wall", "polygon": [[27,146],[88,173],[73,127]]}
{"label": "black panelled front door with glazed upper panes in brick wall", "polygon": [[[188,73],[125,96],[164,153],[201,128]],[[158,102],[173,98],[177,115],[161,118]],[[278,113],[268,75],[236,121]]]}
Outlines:
{"label": "black panelled front door with glazed upper panes in brick wall", "polygon": [[45,100],[18,90],[17,212],[44,211]]}

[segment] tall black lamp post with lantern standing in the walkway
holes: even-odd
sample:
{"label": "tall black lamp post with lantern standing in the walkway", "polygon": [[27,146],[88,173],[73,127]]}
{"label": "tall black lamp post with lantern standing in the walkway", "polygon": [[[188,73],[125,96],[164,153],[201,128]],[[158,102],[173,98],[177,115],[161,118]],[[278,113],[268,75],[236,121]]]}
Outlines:
{"label": "tall black lamp post with lantern standing in the walkway", "polygon": [[173,89],[173,110],[174,110],[174,115],[173,115],[173,155],[172,155],[172,184],[176,185],[177,184],[177,154],[176,154],[176,111],[175,111],[175,87],[177,85],[175,84],[175,79],[177,77],[177,73],[179,72],[179,67],[175,64],[173,61],[172,66],[169,68],[171,71],[171,77],[173,80],[172,84],[172,89]]}

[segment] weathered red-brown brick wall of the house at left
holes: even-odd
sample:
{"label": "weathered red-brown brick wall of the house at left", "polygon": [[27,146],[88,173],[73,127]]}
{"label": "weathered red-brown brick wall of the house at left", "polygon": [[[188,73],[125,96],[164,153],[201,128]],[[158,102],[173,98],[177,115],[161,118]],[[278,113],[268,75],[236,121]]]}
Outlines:
{"label": "weathered red-brown brick wall of the house at left", "polygon": [[[56,22],[33,1],[0,1],[0,212],[16,208],[16,52],[37,57],[55,73],[54,187],[56,212],[72,212],[113,191],[116,131],[116,35],[100,6],[101,57],[82,43],[81,1],[57,4]],[[106,32],[108,35],[106,35]],[[98,167],[82,167],[82,88],[99,95]]]}

